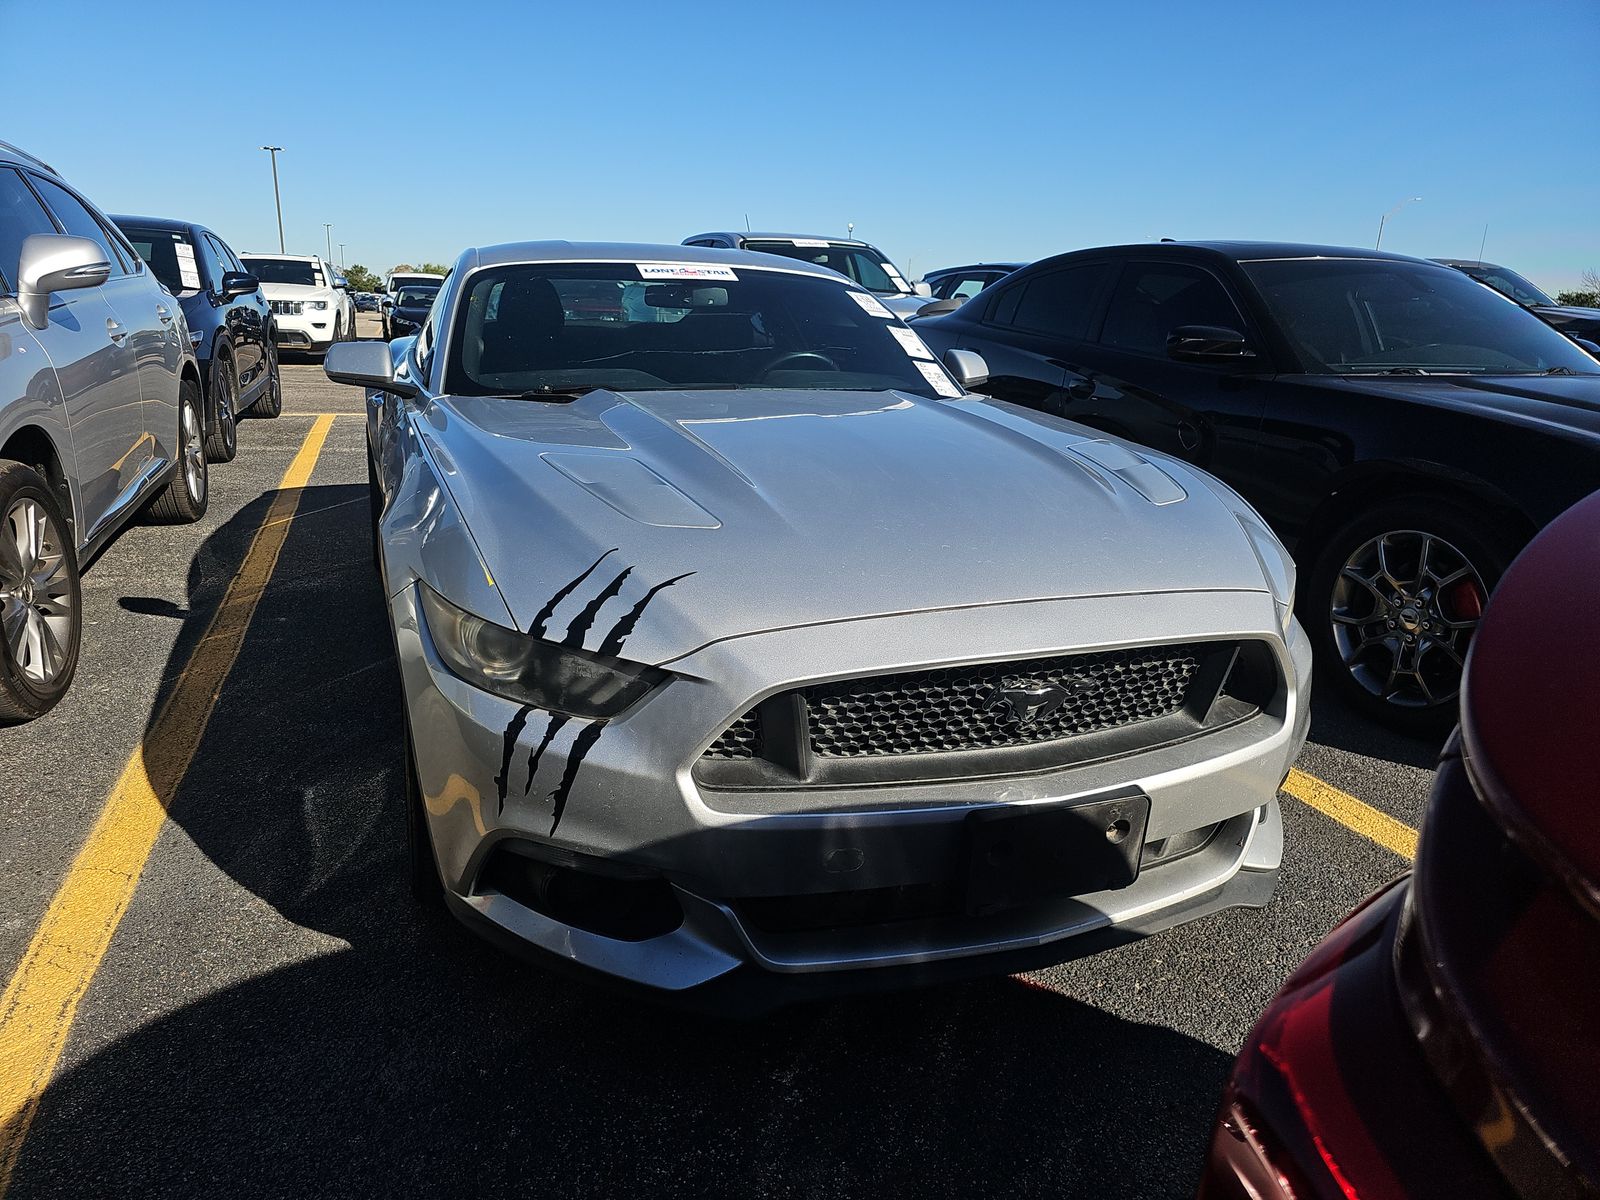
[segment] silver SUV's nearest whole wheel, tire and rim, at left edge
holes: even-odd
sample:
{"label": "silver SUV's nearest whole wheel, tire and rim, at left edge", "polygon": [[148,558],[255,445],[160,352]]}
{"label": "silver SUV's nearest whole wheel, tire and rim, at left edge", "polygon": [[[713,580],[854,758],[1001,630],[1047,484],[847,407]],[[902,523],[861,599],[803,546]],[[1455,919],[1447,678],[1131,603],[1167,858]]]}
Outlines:
{"label": "silver SUV's nearest whole wheel, tire and rim, at left edge", "polygon": [[[46,637],[51,650],[35,659]],[[72,526],[43,475],[0,461],[0,725],[56,707],[72,686],[82,637]]]}

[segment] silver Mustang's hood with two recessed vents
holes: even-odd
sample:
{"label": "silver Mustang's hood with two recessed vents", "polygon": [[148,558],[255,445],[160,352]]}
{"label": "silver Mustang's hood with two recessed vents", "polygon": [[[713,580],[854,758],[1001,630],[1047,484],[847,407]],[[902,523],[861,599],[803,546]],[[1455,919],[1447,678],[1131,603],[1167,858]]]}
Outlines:
{"label": "silver Mustang's hood with two recessed vents", "polygon": [[645,600],[640,662],[878,614],[1267,590],[1214,480],[979,398],[445,397],[418,427],[518,626],[570,635],[598,598],[598,645]]}

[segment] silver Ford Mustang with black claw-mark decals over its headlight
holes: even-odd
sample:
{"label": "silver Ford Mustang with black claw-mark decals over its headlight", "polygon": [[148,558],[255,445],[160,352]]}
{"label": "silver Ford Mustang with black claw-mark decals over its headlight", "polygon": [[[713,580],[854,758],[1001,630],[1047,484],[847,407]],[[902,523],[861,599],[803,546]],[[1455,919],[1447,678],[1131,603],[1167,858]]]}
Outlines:
{"label": "silver Ford Mustang with black claw-mark decals over its headlight", "polygon": [[1059,962],[1277,877],[1307,725],[1237,494],[747,251],[466,251],[368,389],[413,883],[730,1003]]}

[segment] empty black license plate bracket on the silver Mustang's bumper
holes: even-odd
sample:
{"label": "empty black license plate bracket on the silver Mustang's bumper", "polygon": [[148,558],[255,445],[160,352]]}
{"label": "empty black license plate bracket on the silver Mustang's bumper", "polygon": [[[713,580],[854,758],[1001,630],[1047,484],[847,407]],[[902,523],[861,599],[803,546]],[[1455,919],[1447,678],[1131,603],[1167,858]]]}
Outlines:
{"label": "empty black license plate bracket on the silver Mustang's bumper", "polygon": [[966,912],[1125,888],[1139,877],[1150,798],[1128,790],[966,814]]}

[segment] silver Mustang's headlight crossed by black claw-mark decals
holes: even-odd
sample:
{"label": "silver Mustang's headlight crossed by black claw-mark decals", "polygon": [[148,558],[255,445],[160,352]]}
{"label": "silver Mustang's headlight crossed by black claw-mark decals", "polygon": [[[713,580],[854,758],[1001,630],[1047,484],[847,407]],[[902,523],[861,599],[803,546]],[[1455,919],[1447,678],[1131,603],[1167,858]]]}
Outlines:
{"label": "silver Mustang's headlight crossed by black claw-mark decals", "polygon": [[542,642],[464,613],[421,586],[427,632],[445,666],[467,683],[518,704],[587,720],[616,717],[667,672]]}

